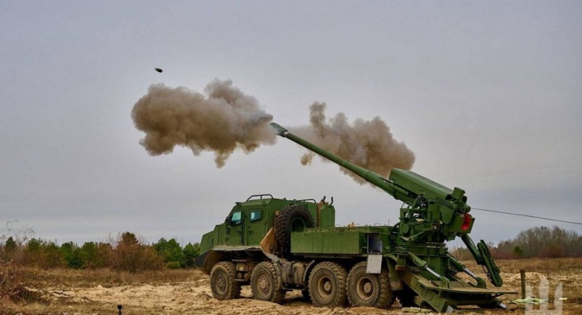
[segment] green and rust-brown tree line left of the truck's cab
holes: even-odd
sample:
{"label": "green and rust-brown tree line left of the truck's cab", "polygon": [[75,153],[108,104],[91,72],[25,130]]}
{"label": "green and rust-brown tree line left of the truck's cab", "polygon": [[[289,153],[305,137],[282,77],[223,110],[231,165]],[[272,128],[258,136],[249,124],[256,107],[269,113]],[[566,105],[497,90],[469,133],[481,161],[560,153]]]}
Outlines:
{"label": "green and rust-brown tree line left of the truck's cab", "polygon": [[0,244],[0,260],[19,266],[74,269],[111,268],[119,271],[179,269],[194,267],[200,244],[180,245],[176,239],[161,238],[146,244],[131,232],[109,242],[75,242],[58,245],[39,238],[5,238]]}

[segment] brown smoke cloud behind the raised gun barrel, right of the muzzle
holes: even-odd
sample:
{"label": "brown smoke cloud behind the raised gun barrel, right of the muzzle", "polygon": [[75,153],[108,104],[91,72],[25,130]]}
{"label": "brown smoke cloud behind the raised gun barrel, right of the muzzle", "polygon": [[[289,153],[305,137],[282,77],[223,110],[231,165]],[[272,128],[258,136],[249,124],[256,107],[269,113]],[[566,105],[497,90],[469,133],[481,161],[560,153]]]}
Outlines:
{"label": "brown smoke cloud behind the raised gun barrel, right of the muzzle", "polygon": [[[325,107],[325,103],[313,103],[309,108],[310,125],[291,128],[290,131],[342,159],[382,176],[388,176],[395,168],[412,168],[414,152],[393,137],[390,127],[380,117],[372,120],[356,119],[350,124],[345,114],[338,113],[327,121]],[[301,164],[310,164],[314,156],[313,152],[305,153],[301,157]],[[328,162],[327,159],[322,160]],[[351,171],[343,167],[340,170],[364,184],[365,181]]]}

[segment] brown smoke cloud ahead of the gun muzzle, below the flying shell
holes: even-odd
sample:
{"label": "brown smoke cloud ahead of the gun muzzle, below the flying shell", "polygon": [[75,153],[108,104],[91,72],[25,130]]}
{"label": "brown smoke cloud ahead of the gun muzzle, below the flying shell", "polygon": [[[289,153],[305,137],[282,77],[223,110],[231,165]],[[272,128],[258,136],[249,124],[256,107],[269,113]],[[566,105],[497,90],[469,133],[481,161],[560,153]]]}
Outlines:
{"label": "brown smoke cloud ahead of the gun muzzle, below the flying shell", "polygon": [[275,133],[257,99],[232,86],[232,81],[214,80],[204,94],[184,87],[154,84],[133,106],[132,119],[144,131],[140,144],[150,155],[168,154],[176,145],[194,155],[214,152],[217,167],[236,149],[253,152],[261,144],[274,144]]}

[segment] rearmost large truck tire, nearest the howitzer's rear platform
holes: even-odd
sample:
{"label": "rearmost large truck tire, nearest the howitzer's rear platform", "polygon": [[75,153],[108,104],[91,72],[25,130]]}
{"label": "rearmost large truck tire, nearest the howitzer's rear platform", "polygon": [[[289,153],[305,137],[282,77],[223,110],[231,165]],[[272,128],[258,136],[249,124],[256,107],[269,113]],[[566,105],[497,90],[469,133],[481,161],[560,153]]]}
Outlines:
{"label": "rearmost large truck tire, nearest the howitzer's rear platform", "polygon": [[370,274],[366,273],[366,266],[367,262],[357,263],[347,275],[347,299],[352,306],[386,309],[394,301],[388,270],[383,268],[379,274]]}

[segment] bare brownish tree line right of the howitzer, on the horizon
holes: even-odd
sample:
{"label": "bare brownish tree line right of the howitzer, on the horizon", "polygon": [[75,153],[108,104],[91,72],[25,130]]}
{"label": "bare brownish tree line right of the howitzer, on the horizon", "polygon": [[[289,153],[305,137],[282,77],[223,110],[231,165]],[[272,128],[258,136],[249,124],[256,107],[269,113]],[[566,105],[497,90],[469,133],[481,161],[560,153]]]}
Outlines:
{"label": "bare brownish tree line right of the howitzer, on the horizon", "polygon": [[[514,238],[488,245],[497,259],[582,257],[582,235],[557,226],[528,228]],[[473,259],[466,248],[454,249],[453,256]]]}

